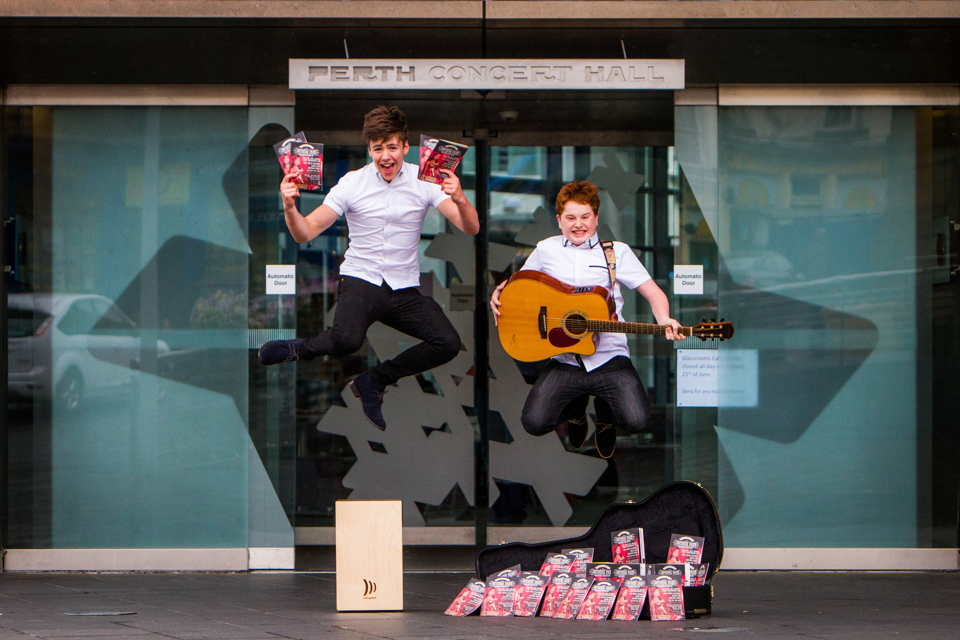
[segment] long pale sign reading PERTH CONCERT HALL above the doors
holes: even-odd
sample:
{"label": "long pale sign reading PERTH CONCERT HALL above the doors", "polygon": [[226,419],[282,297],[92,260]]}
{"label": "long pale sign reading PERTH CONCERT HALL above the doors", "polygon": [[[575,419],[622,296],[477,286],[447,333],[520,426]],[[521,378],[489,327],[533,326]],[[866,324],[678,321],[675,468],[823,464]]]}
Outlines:
{"label": "long pale sign reading PERTH CONCERT HALL above the doors", "polygon": [[291,89],[682,89],[683,59],[291,59]]}

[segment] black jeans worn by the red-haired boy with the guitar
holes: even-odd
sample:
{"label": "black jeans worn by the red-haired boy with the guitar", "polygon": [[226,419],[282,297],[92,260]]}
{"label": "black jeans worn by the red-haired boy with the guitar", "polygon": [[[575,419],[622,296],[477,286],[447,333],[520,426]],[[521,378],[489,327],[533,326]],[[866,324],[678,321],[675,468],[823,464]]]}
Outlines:
{"label": "black jeans worn by the red-haired boy with the guitar", "polygon": [[597,420],[638,434],[650,423],[650,400],[634,364],[616,356],[592,371],[551,360],[527,395],[520,422],[532,436],[542,436],[571,417],[584,415],[589,396]]}

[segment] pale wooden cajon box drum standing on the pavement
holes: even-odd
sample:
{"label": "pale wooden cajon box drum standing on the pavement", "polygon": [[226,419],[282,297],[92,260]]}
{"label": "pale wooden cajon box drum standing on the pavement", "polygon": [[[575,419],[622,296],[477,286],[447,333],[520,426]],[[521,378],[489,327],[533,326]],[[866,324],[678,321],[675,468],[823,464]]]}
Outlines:
{"label": "pale wooden cajon box drum standing on the pavement", "polygon": [[403,609],[403,503],[338,500],[337,610]]}

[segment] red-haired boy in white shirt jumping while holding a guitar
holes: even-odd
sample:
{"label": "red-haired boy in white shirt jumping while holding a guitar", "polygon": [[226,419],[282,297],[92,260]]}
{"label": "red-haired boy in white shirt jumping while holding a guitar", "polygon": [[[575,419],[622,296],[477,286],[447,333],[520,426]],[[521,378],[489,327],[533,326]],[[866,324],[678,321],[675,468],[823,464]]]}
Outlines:
{"label": "red-haired boy in white shirt jumping while holding a guitar", "polygon": [[[623,243],[602,242],[597,237],[600,196],[596,185],[586,180],[564,185],[557,196],[557,211],[563,235],[541,241],[523,269],[546,273],[575,288],[574,293],[593,287],[609,291],[612,284],[611,311],[615,318],[603,320],[622,318],[621,284],[636,289],[650,303],[657,322],[665,325],[661,331],[666,339],[684,340],[680,322],[670,318],[666,295],[634,251]],[[499,320],[500,293],[506,285],[507,282],[501,283],[493,292],[490,306],[494,322]],[[533,300],[534,305],[538,303]],[[541,332],[545,337],[551,319],[545,317],[546,307],[541,309]],[[570,444],[579,448],[587,440],[587,405],[592,395],[596,398],[594,441],[599,454],[610,458],[616,444],[616,427],[631,434],[646,429],[650,401],[630,360],[626,336],[600,332],[593,336],[596,349],[591,355],[562,353],[550,360],[527,396],[520,421],[527,433],[534,436],[547,434],[565,421]]]}

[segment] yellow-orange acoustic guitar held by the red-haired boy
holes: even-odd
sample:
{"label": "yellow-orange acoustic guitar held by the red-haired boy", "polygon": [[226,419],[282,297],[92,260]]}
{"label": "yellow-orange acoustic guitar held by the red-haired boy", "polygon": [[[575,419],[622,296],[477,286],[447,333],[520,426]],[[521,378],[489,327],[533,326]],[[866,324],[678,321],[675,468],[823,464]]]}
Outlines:
{"label": "yellow-orange acoustic guitar held by the red-haired boy", "polygon": [[[514,273],[500,292],[500,344],[521,362],[546,360],[561,353],[588,356],[596,350],[594,333],[665,335],[668,325],[619,322],[613,296],[604,287],[571,287],[530,270]],[[732,322],[704,320],[681,327],[684,336],[729,340]]]}

